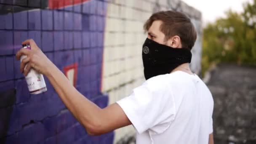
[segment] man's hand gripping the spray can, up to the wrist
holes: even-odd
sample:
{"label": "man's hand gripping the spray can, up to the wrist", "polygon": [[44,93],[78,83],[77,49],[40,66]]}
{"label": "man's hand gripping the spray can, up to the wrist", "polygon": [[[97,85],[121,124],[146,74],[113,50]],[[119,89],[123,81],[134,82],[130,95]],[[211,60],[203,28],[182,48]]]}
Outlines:
{"label": "man's hand gripping the spray can, up to the wrist", "polygon": [[[27,55],[27,58],[21,61],[20,71],[27,76],[31,68],[37,70],[43,75],[47,75],[48,71],[53,67],[53,63],[45,56],[45,54],[37,47],[34,40],[25,40],[22,44],[29,44],[31,50],[21,48],[16,53],[16,60],[20,60],[21,55]],[[27,67],[25,67],[27,64]],[[24,69],[25,68],[25,69]]]}

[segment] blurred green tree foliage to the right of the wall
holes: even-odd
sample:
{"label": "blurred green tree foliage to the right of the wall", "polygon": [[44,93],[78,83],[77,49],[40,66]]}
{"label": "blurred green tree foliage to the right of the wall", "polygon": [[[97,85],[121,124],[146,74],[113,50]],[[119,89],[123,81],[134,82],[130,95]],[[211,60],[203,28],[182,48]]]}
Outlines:
{"label": "blurred green tree foliage to the right of the wall", "polygon": [[203,29],[202,72],[219,63],[256,65],[256,0]]}

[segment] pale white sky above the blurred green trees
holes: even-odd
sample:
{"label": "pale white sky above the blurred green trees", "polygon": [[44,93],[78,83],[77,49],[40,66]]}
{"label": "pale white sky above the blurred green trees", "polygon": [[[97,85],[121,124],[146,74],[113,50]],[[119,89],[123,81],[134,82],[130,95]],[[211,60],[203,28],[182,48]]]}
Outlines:
{"label": "pale white sky above the blurred green trees", "polygon": [[250,0],[182,0],[188,5],[201,11],[203,25],[213,22],[218,17],[224,17],[224,12],[231,8],[234,11],[243,11],[243,3]]}

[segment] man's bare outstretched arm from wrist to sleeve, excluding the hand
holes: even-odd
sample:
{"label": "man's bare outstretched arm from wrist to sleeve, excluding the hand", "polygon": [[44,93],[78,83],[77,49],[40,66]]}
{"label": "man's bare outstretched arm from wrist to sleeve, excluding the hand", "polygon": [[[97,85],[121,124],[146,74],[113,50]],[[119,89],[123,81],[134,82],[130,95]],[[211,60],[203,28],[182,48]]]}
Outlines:
{"label": "man's bare outstretched arm from wrist to sleeve, excluding the hand", "polygon": [[79,93],[56,66],[47,77],[61,100],[89,134],[103,134],[131,124],[118,104],[101,109]]}

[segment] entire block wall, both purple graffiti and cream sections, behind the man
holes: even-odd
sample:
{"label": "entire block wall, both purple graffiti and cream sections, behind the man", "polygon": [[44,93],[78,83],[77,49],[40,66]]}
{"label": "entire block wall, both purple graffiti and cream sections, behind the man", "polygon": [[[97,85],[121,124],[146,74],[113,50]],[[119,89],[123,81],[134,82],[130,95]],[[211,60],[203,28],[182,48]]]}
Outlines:
{"label": "entire block wall, both purple graffiti and cream sections, behind the man", "polygon": [[[197,27],[191,66],[199,72],[201,14],[179,0],[0,0],[0,143],[113,143],[114,132],[88,136],[46,77],[48,91],[30,95],[14,55],[33,38],[62,72],[71,72],[78,91],[106,107],[144,81],[142,25],[167,9],[187,13]],[[115,141],[128,133],[132,126],[118,129]]]}

